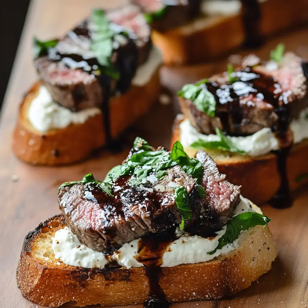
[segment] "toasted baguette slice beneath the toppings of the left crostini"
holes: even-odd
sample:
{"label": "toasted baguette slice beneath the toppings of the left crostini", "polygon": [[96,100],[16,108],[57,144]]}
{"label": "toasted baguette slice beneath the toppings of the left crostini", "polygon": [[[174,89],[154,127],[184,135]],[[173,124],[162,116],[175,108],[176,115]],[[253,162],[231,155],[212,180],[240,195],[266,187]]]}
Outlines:
{"label": "toasted baguette slice beneath the toppings of the left crostini", "polygon": [[[13,134],[13,151],[26,163],[34,165],[65,165],[83,160],[105,144],[106,137],[102,113],[83,124],[48,132],[37,131],[27,119],[28,108],[37,95],[40,82],[36,82],[24,97]],[[142,87],[133,86],[124,95],[110,100],[111,136],[116,138],[155,103],[160,91],[159,68],[151,80]]]}

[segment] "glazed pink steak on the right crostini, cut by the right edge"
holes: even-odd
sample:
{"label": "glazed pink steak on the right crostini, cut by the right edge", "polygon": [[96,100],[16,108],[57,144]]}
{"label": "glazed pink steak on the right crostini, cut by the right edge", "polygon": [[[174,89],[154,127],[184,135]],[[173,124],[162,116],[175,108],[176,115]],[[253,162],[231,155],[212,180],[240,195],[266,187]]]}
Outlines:
{"label": "glazed pink steak on the right crostini, cut by the right edge", "polygon": [[280,66],[271,61],[260,62],[256,56],[246,57],[243,66],[234,73],[237,81],[232,84],[223,74],[215,75],[201,85],[215,97],[215,117],[199,111],[193,102],[180,98],[183,114],[201,133],[215,134],[218,127],[230,136],[246,136],[265,127],[274,128],[283,105],[287,105],[289,111],[286,122],[297,119],[300,111],[308,107],[302,59],[286,53]]}

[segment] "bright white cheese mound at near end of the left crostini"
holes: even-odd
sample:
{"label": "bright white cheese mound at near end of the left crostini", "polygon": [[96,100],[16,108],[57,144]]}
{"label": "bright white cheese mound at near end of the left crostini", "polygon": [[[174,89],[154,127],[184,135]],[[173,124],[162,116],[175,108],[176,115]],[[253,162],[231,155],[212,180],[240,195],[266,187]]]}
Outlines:
{"label": "bright white cheese mound at near end of the left crostini", "polygon": [[55,103],[45,86],[40,86],[38,95],[28,110],[28,120],[39,132],[66,128],[70,124],[83,124],[90,117],[99,114],[99,108],[87,108],[73,112]]}

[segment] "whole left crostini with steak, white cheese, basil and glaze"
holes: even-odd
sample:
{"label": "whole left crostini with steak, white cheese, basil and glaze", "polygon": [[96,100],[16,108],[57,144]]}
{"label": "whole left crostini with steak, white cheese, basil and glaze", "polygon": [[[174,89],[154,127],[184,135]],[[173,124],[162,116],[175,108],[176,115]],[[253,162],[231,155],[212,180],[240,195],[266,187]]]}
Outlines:
{"label": "whole left crostini with steak, white cheese, basil and glaze", "polygon": [[161,56],[140,8],[93,10],[61,39],[34,38],[40,80],[20,105],[15,155],[30,164],[87,158],[156,101]]}

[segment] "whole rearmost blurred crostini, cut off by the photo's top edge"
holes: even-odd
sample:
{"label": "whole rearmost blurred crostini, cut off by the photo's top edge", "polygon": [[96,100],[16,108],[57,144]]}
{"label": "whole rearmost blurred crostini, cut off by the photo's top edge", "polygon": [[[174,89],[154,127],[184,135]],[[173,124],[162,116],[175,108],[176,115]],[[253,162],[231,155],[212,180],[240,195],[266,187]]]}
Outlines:
{"label": "whole rearmost blurred crostini, cut off by the photo's top edge", "polygon": [[134,0],[164,63],[200,63],[308,22],[306,0]]}

